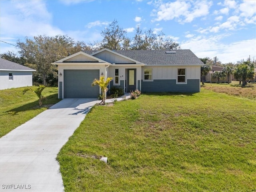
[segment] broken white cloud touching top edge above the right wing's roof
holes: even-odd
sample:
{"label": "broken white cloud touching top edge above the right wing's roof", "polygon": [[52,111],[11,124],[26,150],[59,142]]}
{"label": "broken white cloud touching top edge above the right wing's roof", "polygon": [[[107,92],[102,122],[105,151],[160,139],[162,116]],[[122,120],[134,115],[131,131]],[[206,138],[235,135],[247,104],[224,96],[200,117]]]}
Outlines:
{"label": "broken white cloud touching top edge above the right wing's roof", "polygon": [[[161,3],[160,5],[158,5]],[[152,20],[155,21],[168,21],[176,18],[180,23],[192,22],[195,18],[206,16],[209,14],[209,8],[212,2],[196,1],[196,2],[158,2],[157,10],[153,10],[151,16],[156,16]]]}

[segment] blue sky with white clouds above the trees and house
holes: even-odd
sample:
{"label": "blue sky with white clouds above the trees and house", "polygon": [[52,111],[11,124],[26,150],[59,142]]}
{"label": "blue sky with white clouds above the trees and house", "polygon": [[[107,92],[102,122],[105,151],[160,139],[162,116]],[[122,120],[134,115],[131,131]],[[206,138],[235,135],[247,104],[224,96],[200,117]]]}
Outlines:
{"label": "blue sky with white clouds above the trees and house", "polygon": [[[15,44],[26,36],[61,34],[100,41],[100,32],[115,19],[128,37],[137,26],[162,31],[199,58],[256,59],[256,0],[0,0],[0,40]],[[4,42],[0,53],[16,51]]]}

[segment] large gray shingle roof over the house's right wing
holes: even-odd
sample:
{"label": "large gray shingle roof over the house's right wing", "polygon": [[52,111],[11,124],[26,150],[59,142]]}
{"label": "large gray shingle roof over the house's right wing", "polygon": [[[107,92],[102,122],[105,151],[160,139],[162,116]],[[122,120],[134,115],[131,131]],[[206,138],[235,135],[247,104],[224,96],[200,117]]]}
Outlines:
{"label": "large gray shingle roof over the house's right wing", "polygon": [[[191,50],[116,50],[146,65],[204,65]],[[166,52],[176,52],[166,54]],[[92,54],[92,51],[86,52]]]}

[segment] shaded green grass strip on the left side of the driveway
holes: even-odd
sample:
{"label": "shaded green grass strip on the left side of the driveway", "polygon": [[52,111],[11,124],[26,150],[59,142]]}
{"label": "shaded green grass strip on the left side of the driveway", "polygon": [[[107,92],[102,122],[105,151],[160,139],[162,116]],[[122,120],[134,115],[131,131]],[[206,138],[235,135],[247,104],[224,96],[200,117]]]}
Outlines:
{"label": "shaded green grass strip on the left side of the driveway", "polygon": [[39,107],[35,93],[26,92],[23,95],[23,90],[24,88],[0,90],[0,137],[60,101],[58,88],[47,87],[43,90],[42,95],[46,96],[46,100],[42,107]]}

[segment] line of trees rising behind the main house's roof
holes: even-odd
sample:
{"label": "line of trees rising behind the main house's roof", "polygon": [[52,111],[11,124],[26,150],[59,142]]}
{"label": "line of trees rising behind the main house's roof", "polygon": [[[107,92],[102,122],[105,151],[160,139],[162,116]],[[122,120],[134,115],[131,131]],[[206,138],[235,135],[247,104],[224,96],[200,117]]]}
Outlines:
{"label": "line of trees rising behind the main house's roof", "polygon": [[24,41],[17,40],[18,53],[7,51],[0,54],[1,58],[16,62],[36,70],[33,74],[35,84],[56,85],[58,82],[58,68],[52,62],[60,60],[70,54],[86,50],[171,50],[180,49],[178,43],[171,38],[164,38],[164,33],[155,34],[151,29],[142,32],[137,27],[134,37],[128,38],[127,31],[114,20],[102,30],[103,40],[100,42],[75,41],[64,35],[38,35]]}

